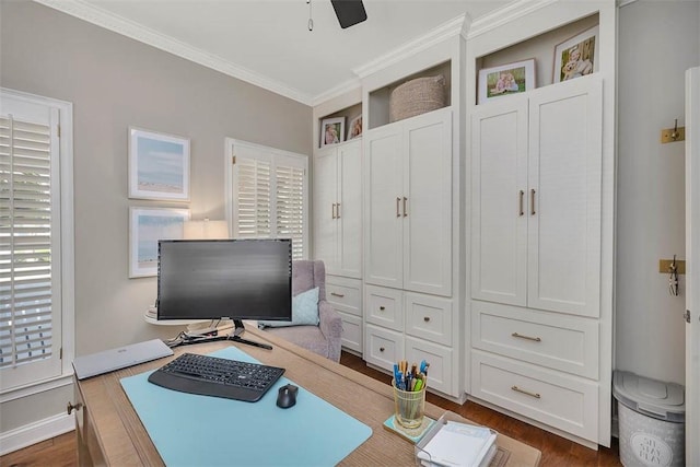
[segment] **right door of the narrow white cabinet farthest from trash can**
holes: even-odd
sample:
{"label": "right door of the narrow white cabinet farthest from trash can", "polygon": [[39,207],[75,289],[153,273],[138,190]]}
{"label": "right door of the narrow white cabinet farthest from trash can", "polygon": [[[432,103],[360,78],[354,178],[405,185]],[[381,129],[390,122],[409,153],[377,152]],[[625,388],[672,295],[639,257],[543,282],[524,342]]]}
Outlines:
{"label": "right door of the narrow white cabinet farthest from trash can", "polygon": [[338,275],[361,277],[362,257],[362,141],[338,148],[339,194],[336,206],[338,221]]}

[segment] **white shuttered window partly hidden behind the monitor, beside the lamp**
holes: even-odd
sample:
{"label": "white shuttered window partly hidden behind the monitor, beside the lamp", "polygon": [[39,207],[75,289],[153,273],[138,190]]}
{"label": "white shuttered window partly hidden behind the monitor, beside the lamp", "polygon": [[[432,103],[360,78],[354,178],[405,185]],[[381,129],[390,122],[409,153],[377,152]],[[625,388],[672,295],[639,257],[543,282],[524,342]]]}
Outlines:
{"label": "white shuttered window partly hidden behind the monitor, beside the lamp", "polygon": [[231,153],[233,236],[292,238],[292,258],[304,258],[307,157],[241,141]]}

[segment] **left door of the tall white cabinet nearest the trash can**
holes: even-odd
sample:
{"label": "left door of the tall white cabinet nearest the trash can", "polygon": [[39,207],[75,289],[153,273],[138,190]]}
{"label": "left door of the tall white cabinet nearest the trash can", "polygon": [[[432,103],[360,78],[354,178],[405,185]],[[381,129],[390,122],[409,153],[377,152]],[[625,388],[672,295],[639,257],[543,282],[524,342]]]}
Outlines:
{"label": "left door of the tall white cabinet nearest the trash can", "polygon": [[471,296],[527,304],[527,98],[471,118]]}

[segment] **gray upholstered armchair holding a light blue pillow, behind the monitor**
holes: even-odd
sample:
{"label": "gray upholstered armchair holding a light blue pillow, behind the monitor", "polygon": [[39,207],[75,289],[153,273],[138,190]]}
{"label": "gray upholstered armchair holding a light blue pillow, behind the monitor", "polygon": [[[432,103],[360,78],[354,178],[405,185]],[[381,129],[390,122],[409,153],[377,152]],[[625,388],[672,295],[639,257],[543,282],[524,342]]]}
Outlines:
{"label": "gray upholstered armchair holding a light blue pillow, behind the monitor", "polygon": [[335,362],[340,361],[340,315],[326,302],[326,267],[323,261],[292,261],[292,295],[318,288],[318,325],[265,327],[285,340]]}

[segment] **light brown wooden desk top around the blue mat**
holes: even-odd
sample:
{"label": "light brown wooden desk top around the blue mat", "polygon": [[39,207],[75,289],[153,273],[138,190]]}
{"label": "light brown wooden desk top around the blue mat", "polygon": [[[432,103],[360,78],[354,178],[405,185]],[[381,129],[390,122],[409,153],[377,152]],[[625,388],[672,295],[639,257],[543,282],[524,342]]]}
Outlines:
{"label": "light brown wooden desk top around the blue mat", "polygon": [[[384,421],[394,411],[389,385],[265,331],[248,328],[246,337],[267,341],[273,346],[273,350],[236,345],[241,350],[265,364],[287,369],[284,376],[289,380],[372,428],[372,436],[346,457],[341,465],[416,465],[413,445],[383,428]],[[209,353],[233,345],[220,341],[174,350],[175,355],[184,352]],[[161,359],[77,382],[75,402],[82,404],[77,412],[75,430],[80,465],[163,465],[119,380],[155,370],[166,361],[168,359]],[[429,417],[438,419],[443,412],[443,409],[425,404]],[[539,465],[541,453],[538,450],[503,435],[499,435],[497,443],[511,453],[506,466]]]}

